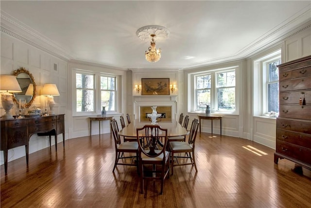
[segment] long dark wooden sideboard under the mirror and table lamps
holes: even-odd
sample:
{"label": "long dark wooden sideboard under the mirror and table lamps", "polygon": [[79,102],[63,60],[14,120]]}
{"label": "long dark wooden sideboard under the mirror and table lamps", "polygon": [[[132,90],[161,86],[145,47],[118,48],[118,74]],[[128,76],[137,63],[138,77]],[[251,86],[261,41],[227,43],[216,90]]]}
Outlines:
{"label": "long dark wooden sideboard under the mirror and table lamps", "polygon": [[57,151],[57,135],[63,134],[63,145],[65,147],[65,114],[30,117],[22,119],[1,119],[1,148],[4,156],[4,170],[7,173],[8,150],[25,146],[26,163],[28,165],[29,139],[37,133],[39,136],[55,137],[55,149]]}

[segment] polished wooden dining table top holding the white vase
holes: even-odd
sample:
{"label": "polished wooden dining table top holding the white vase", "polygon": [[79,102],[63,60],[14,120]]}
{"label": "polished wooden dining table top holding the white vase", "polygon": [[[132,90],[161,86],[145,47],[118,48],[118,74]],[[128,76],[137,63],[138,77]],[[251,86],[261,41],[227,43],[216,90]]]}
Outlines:
{"label": "polished wooden dining table top holding the white vase", "polygon": [[[135,119],[133,122],[125,126],[121,131],[119,131],[119,135],[126,137],[137,137],[136,129],[141,128],[144,125],[151,125],[151,122],[140,122],[138,119]],[[155,125],[159,125],[161,128],[167,129],[167,136],[185,136],[189,134],[189,131],[184,128],[177,121],[173,122],[158,122]],[[144,136],[144,135],[139,135]]]}

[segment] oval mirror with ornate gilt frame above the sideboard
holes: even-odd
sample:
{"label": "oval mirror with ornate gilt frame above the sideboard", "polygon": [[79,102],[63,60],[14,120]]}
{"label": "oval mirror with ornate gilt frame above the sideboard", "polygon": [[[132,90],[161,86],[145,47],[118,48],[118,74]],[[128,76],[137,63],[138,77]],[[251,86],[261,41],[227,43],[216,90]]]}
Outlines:
{"label": "oval mirror with ornate gilt frame above the sideboard", "polygon": [[14,70],[12,75],[16,76],[17,82],[22,90],[21,93],[14,93],[13,100],[18,103],[19,100],[25,107],[31,106],[35,100],[35,79],[34,76],[24,67]]}

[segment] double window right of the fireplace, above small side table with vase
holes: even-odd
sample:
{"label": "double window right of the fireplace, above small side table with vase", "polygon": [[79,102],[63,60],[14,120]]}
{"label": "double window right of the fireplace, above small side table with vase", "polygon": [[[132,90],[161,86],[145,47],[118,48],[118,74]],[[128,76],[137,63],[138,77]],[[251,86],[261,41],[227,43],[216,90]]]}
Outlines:
{"label": "double window right of the fireplace, above small side table with vase", "polygon": [[235,72],[235,69],[217,70],[195,76],[195,111],[204,111],[210,105],[212,111],[235,112]]}

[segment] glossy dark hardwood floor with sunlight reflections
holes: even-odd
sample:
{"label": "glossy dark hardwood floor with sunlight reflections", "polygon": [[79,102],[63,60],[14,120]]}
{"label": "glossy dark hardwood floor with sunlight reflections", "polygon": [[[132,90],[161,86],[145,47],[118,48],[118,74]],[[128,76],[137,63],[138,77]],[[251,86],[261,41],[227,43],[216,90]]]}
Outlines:
{"label": "glossy dark hardwood floor with sunlight reflections", "polygon": [[[112,172],[110,133],[66,140],[8,163],[1,173],[1,208],[310,208],[311,171],[294,171],[274,150],[258,143],[198,133],[192,166],[174,167],[164,182],[150,181],[139,193],[136,167]],[[30,141],[31,142],[31,141]]]}

